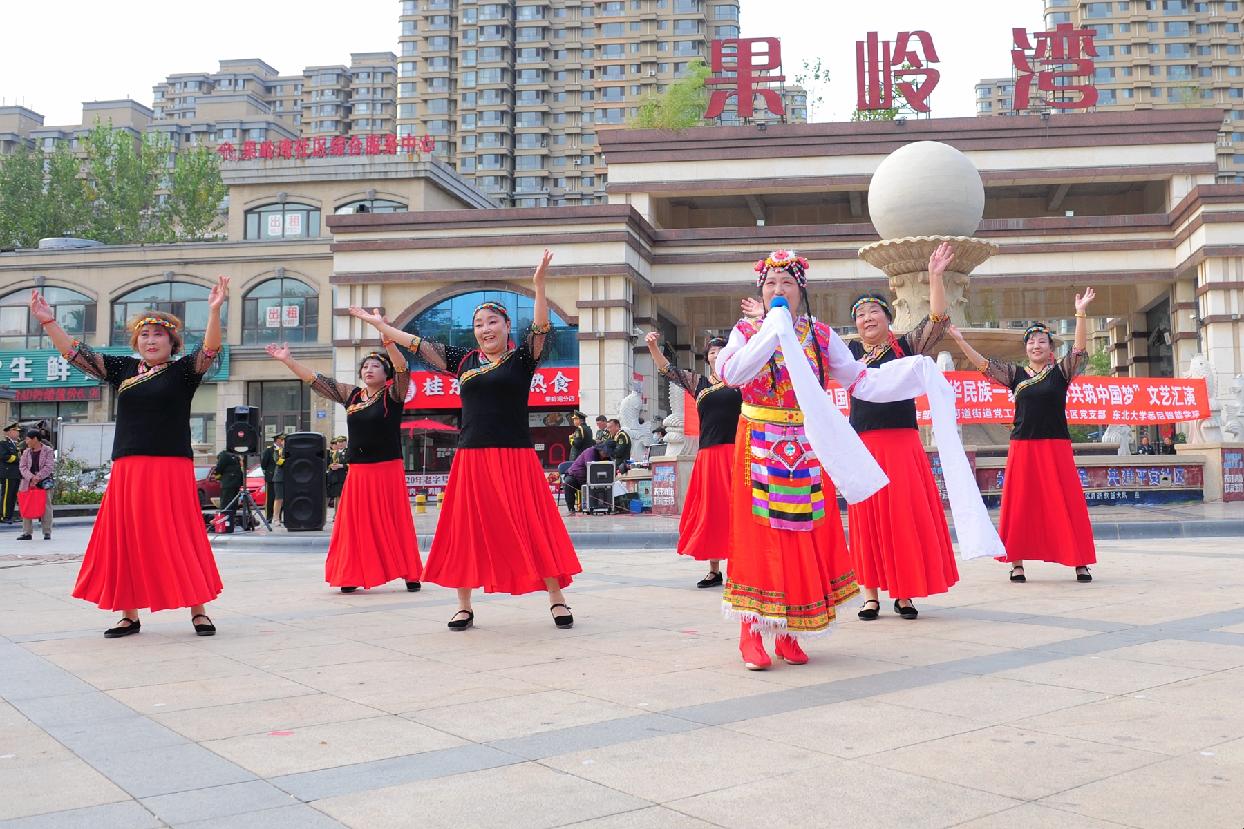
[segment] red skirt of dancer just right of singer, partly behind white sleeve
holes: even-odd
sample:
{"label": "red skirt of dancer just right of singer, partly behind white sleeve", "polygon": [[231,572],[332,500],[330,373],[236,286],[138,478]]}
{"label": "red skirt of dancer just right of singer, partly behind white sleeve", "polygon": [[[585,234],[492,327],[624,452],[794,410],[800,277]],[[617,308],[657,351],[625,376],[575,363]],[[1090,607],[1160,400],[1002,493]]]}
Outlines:
{"label": "red skirt of dancer just right of singer, partly behind white sleeve", "polygon": [[877,429],[860,439],[889,479],[889,486],[847,507],[860,583],[896,599],[945,593],[959,568],[919,430]]}

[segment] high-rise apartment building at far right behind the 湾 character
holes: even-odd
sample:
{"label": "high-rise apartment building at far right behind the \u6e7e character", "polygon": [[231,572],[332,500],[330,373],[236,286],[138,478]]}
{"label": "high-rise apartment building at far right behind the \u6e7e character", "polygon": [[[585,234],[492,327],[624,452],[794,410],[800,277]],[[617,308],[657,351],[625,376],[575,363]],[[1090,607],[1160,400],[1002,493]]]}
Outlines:
{"label": "high-rise apartment building at far right behind the \u6e7e character", "polygon": [[[1240,31],[1244,11],[1239,0],[1044,2],[1047,30],[1071,24],[1097,32],[1092,77],[1097,106],[1092,111],[1222,109],[1224,135],[1219,142],[1219,180],[1244,183],[1244,154],[1237,153],[1240,132],[1244,132],[1244,32]],[[977,114],[1015,114],[982,94],[983,88],[999,85],[998,78],[978,83]],[[1037,93],[1035,83],[1033,92]],[[1033,108],[1049,107],[1035,104]],[[1054,109],[1085,112],[1059,109],[1056,104]]]}

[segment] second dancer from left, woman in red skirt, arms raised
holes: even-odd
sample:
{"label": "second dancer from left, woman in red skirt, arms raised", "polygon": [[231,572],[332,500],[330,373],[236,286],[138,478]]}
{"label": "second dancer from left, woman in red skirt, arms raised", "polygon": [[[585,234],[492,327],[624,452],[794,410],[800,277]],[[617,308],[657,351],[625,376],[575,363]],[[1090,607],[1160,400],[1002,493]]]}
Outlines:
{"label": "second dancer from left, woman in red skirt, arms raised", "polygon": [[[371,319],[361,308],[357,314]],[[378,316],[378,314],[377,314]],[[338,383],[290,357],[286,346],[267,353],[285,363],[320,396],[346,406],[350,475],[337,501],[323,578],[342,593],[373,588],[401,578],[414,593],[423,577],[419,539],[402,466],[402,409],[411,369],[386,336],[384,353],[372,352],[358,365],[362,385]]]}

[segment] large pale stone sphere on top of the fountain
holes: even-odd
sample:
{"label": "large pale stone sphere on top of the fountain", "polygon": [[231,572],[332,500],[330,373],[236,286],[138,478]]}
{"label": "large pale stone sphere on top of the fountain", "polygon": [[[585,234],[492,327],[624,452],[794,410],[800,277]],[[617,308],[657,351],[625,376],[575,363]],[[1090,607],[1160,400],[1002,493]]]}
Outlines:
{"label": "large pale stone sphere on top of the fountain", "polygon": [[896,149],[868,185],[868,213],[882,239],[970,236],[985,211],[985,185],[967,155],[935,140]]}

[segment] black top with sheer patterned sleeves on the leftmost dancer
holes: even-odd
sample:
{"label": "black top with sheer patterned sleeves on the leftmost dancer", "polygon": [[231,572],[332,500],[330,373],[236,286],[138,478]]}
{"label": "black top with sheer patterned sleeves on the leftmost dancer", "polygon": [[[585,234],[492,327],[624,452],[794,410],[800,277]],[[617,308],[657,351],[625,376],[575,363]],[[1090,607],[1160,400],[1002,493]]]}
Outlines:
{"label": "black top with sheer patterned sleeves on the leftmost dancer", "polygon": [[66,358],[117,390],[112,460],[131,455],[194,457],[190,403],[215,353],[208,354],[199,346],[180,359],[148,367],[137,357],[100,354],[75,343]]}

